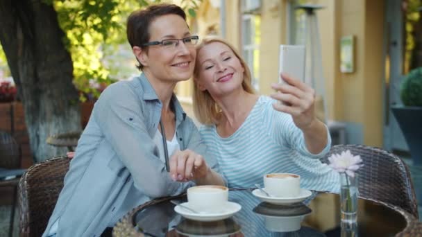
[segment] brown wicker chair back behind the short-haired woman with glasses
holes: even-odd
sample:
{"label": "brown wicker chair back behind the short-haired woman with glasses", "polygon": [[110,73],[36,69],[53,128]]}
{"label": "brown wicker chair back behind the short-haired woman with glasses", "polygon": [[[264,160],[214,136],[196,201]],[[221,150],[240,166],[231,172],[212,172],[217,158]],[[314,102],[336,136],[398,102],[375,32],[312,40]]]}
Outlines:
{"label": "brown wicker chair back behind the short-haired woman with glasses", "polygon": [[69,158],[54,157],[28,168],[19,181],[19,236],[42,236],[56,206]]}

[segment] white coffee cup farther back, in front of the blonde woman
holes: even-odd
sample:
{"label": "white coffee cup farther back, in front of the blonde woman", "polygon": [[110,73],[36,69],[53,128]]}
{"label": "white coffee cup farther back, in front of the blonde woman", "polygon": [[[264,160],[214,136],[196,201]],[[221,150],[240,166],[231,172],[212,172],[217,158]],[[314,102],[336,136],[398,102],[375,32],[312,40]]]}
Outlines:
{"label": "white coffee cup farther back, in front of the blonde woman", "polygon": [[301,176],[289,173],[264,175],[265,191],[277,198],[295,198],[301,193]]}

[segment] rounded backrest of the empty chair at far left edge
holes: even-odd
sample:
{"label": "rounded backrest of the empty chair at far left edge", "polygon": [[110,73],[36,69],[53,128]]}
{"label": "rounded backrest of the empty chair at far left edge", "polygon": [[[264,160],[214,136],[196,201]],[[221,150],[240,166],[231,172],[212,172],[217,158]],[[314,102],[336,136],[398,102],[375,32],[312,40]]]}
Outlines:
{"label": "rounded backrest of the empty chair at far left edge", "polygon": [[0,130],[0,168],[21,168],[21,151],[8,132]]}

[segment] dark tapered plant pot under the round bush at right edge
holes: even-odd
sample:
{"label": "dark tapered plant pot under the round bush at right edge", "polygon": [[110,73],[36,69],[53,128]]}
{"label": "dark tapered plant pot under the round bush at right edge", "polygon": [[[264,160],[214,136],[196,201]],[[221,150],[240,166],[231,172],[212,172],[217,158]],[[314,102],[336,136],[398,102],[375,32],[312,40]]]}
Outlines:
{"label": "dark tapered plant pot under the round bush at right edge", "polygon": [[410,148],[414,166],[422,166],[422,107],[392,107],[391,110]]}

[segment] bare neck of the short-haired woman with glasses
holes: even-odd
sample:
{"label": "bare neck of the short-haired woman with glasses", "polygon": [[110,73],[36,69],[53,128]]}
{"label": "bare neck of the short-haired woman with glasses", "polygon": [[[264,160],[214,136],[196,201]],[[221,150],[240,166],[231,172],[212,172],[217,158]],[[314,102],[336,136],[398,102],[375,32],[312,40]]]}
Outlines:
{"label": "bare neck of the short-haired woman with glasses", "polygon": [[162,112],[168,112],[170,110],[171,96],[173,95],[174,87],[176,82],[160,80],[152,75],[149,70],[144,70],[146,78],[148,78],[151,86],[153,87],[155,94],[162,103]]}

